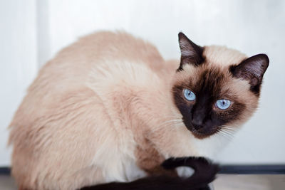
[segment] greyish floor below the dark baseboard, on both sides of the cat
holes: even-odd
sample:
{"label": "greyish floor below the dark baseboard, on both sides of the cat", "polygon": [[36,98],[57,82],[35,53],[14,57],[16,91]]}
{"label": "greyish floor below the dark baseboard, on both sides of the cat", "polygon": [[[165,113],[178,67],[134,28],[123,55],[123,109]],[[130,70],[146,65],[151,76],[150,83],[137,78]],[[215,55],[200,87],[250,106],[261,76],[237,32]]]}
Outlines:
{"label": "greyish floor below the dark baseboard, on both sides of the cat", "polygon": [[[0,176],[0,190],[14,190],[10,176]],[[215,190],[284,190],[285,175],[225,175],[217,176]]]}

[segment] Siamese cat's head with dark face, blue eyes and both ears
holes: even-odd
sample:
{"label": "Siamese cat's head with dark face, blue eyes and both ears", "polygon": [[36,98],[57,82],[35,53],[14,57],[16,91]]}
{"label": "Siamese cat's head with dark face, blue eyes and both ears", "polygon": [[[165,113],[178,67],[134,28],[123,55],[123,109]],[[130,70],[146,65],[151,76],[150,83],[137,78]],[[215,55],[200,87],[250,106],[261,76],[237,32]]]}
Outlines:
{"label": "Siamese cat's head with dark face, blue eyes and both ears", "polygon": [[172,93],[187,129],[204,139],[248,120],[257,108],[269,58],[197,46],[183,33],[179,43],[181,60]]}

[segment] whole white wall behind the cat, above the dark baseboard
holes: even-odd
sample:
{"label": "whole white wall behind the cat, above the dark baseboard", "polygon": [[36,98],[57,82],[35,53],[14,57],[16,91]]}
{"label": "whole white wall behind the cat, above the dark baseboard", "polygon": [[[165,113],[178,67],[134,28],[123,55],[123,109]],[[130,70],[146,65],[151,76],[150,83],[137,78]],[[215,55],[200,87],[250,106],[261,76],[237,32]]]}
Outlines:
{"label": "whole white wall behind the cat, above the dark baseboard", "polygon": [[[5,130],[24,95],[24,87],[33,78],[35,57],[42,65],[79,36],[98,30],[121,29],[151,41],[165,58],[179,58],[177,33],[183,31],[202,46],[227,45],[249,56],[257,53],[269,55],[271,63],[264,78],[260,109],[218,159],[224,163],[285,164],[285,122],[281,120],[285,105],[285,66],[282,57],[285,44],[284,1],[42,0],[37,1],[36,5],[35,1],[28,1],[31,6],[26,2],[13,2],[21,10],[16,11],[9,6],[8,12],[7,8],[1,6],[6,11],[1,13],[1,19],[15,19],[19,11],[24,18],[18,18],[19,21],[16,18],[18,23],[6,23],[4,26],[9,27],[5,27],[5,33],[1,36],[6,40],[4,46],[0,45],[1,49],[6,49],[5,46],[11,48],[1,59],[5,62],[1,63],[0,68],[13,68],[9,68],[9,77],[5,77],[6,71],[0,70],[1,89],[10,90],[1,98],[4,101],[4,106],[0,107],[1,115],[5,117],[1,117],[0,130]],[[1,4],[8,6],[7,2]],[[32,10],[25,11],[27,7]],[[23,25],[25,27],[21,28]],[[31,33],[12,36],[12,26],[21,31],[30,27]],[[21,46],[10,44],[7,36],[19,41],[31,41],[28,54],[23,56]],[[12,51],[12,48],[18,51]],[[16,58],[18,60],[14,60]],[[29,73],[19,72],[19,68],[24,67],[20,63],[26,63],[25,67],[31,68],[27,71]],[[14,81],[16,78],[26,80],[20,80],[22,84],[19,85]],[[0,153],[0,165],[9,163],[9,154],[4,152],[2,146],[6,135],[0,134],[0,150],[3,153]]]}

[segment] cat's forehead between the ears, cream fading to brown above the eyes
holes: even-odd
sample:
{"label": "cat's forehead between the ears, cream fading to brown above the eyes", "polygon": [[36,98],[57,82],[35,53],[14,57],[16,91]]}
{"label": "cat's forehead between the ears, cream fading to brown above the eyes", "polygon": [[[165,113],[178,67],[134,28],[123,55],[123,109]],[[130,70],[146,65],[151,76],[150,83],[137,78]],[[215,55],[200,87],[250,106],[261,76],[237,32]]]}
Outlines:
{"label": "cat's forehead between the ears, cream fading to brown above the eyes", "polygon": [[[209,93],[229,93],[241,85],[233,78],[229,67],[246,59],[244,53],[224,46],[204,46],[203,57],[204,63],[198,66],[183,65],[183,70],[176,75],[176,84],[195,88],[192,90],[208,90]],[[242,86],[247,85],[242,83]]]}

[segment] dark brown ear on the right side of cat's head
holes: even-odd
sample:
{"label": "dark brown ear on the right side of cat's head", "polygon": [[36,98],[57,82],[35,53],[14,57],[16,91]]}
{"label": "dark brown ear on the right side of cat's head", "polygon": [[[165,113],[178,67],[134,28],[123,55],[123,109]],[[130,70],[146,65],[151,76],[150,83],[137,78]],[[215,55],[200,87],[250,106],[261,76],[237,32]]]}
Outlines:
{"label": "dark brown ear on the right side of cat's head", "polygon": [[251,90],[259,94],[262,78],[268,65],[269,58],[265,54],[258,54],[243,60],[239,65],[232,66],[230,71],[234,77],[248,80]]}

